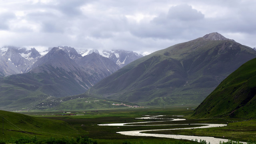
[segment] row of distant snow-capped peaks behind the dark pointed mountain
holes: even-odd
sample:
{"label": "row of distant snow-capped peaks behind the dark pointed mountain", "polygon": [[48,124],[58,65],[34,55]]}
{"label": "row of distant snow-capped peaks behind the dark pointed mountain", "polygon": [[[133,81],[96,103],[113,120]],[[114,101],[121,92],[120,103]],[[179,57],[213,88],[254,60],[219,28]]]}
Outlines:
{"label": "row of distant snow-capped peaks behind the dark pointed mountain", "polygon": [[[143,57],[141,54],[126,50],[75,50],[69,46],[58,46],[73,60],[81,59],[83,56],[95,53],[109,58],[120,68],[130,62]],[[0,48],[0,76],[9,76],[12,74],[22,74],[29,72],[41,58],[47,54],[52,48],[48,48],[44,52],[38,52],[35,48],[17,48],[14,46],[4,46]]]}

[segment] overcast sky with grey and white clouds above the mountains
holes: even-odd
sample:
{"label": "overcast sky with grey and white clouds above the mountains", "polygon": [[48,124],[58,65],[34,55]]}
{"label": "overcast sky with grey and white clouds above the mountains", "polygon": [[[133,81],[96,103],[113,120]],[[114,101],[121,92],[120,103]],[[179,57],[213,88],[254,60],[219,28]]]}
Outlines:
{"label": "overcast sky with grey and white clouds above the mountains", "polygon": [[256,47],[256,0],[0,0],[0,46],[151,53],[218,32]]}

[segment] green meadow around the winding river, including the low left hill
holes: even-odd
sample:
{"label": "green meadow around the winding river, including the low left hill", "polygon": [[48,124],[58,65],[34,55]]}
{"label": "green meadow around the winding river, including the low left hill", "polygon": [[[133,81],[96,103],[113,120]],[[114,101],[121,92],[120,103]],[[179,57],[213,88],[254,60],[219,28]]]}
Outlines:
{"label": "green meadow around the winding river, including the low left hill", "polygon": [[[242,119],[187,119],[183,121],[162,121],[153,119],[135,119],[145,115],[165,115],[160,118],[186,118],[196,105],[177,105],[165,107],[118,108],[103,110],[50,111],[50,112],[6,112],[0,111],[0,143],[98,143],[98,144],[196,144],[200,142],[176,140],[171,138],[154,138],[142,136],[125,136],[116,132],[131,130],[157,130],[168,128],[186,128],[192,125],[175,126],[98,126],[108,123],[129,123],[151,121],[150,124],[226,124],[228,126],[205,129],[157,131],[158,134],[183,134],[195,136],[225,136],[230,140],[256,141],[256,121]],[[66,113],[65,113],[66,112]],[[66,114],[66,115],[64,115]],[[76,114],[76,115],[68,115]],[[184,117],[177,117],[182,115]],[[2,127],[4,118],[4,128]],[[154,122],[153,122],[154,121]],[[237,122],[234,122],[237,121]],[[238,122],[239,121],[239,122]],[[198,126],[198,125],[193,125]],[[2,131],[3,130],[3,131]],[[3,134],[2,134],[3,132]],[[242,132],[242,134],[241,134]],[[200,142],[204,143],[204,142]]]}

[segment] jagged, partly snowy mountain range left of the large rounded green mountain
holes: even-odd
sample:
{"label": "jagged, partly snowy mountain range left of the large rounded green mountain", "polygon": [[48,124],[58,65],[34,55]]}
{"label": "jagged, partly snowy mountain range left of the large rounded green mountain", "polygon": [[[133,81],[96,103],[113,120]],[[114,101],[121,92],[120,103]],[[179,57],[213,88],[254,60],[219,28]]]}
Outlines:
{"label": "jagged, partly snowy mountain range left of the large rounded green mountain", "polygon": [[68,46],[50,48],[44,56],[35,48],[6,47],[1,59],[0,108],[5,109],[84,93],[120,69],[109,58],[94,52],[81,56]]}

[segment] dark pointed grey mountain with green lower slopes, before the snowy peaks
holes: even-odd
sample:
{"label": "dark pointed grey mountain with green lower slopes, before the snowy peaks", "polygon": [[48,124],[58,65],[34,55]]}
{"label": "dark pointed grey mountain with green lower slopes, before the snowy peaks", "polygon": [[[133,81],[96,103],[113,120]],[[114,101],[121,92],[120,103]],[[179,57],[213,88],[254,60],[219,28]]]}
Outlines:
{"label": "dark pointed grey mountain with green lower slopes, before the snowy peaks", "polygon": [[[8,95],[8,98],[24,98],[35,92],[40,97],[82,94],[120,69],[112,60],[96,53],[76,57],[75,54],[72,55],[72,48],[52,48],[38,58],[29,72],[1,79],[0,85],[8,86],[2,88],[0,97]],[[22,93],[19,90],[23,90]]]}

